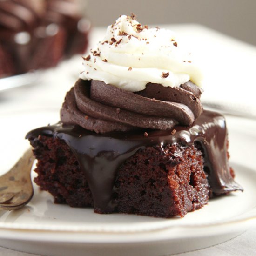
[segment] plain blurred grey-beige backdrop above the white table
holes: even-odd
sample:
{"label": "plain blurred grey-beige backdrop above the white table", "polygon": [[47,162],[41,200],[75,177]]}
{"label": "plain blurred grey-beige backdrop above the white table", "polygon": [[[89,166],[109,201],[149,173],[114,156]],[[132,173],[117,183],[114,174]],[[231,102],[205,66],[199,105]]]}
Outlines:
{"label": "plain blurred grey-beige backdrop above the white table", "polygon": [[110,25],[119,15],[132,12],[142,24],[198,23],[256,45],[256,0],[81,0],[81,3],[93,26]]}

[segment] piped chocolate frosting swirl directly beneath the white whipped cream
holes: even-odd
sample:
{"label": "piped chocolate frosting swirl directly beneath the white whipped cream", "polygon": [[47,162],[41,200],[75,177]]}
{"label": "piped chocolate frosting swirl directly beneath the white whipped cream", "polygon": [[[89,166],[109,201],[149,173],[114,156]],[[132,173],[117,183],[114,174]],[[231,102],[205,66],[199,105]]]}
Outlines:
{"label": "piped chocolate frosting swirl directly beneath the white whipped cream", "polygon": [[149,83],[135,94],[102,81],[80,79],[66,95],[61,121],[96,133],[189,126],[202,112],[200,95],[192,82],[179,88]]}

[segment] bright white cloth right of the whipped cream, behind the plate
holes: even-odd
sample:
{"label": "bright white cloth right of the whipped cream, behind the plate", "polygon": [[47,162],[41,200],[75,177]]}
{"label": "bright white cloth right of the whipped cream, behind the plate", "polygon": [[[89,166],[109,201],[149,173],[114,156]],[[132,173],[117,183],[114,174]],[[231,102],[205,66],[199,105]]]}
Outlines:
{"label": "bright white cloth right of the whipped cream, behind the plate", "polygon": [[256,118],[256,46],[200,25],[173,29],[202,64],[202,103],[229,114]]}

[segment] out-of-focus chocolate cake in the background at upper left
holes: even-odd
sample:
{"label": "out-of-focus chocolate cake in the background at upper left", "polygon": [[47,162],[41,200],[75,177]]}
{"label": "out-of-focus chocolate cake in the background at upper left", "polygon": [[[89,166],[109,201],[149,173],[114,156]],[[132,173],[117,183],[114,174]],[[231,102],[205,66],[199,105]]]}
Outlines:
{"label": "out-of-focus chocolate cake in the background at upper left", "polygon": [[0,77],[84,53],[89,27],[77,0],[0,1]]}

